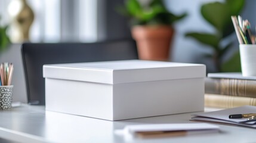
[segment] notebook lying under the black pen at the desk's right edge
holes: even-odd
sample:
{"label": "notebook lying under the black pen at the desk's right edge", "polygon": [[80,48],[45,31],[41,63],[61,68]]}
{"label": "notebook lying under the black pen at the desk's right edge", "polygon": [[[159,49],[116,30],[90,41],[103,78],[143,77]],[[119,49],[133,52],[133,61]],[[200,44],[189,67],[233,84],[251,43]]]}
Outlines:
{"label": "notebook lying under the black pen at the desk's right edge", "polygon": [[201,122],[215,122],[229,125],[246,126],[249,128],[256,128],[256,119],[248,120],[247,118],[229,119],[231,114],[248,114],[256,113],[256,107],[245,105],[236,108],[229,108],[219,111],[211,111],[206,113],[193,114],[192,120]]}

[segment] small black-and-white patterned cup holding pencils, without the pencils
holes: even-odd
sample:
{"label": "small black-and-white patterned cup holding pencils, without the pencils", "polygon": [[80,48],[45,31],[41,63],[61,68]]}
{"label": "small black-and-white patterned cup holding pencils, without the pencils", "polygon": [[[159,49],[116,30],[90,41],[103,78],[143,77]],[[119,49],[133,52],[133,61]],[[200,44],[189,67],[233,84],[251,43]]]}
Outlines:
{"label": "small black-and-white patterned cup holding pencils, without the pencils", "polygon": [[0,110],[11,108],[13,102],[13,85],[0,86]]}

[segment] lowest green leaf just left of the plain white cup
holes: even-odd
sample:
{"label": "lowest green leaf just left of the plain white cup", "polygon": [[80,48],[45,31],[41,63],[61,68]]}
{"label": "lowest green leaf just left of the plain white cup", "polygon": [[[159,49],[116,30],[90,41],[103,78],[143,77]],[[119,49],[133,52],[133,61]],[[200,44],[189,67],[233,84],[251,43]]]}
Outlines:
{"label": "lowest green leaf just left of the plain white cup", "polygon": [[235,52],[233,57],[229,60],[221,64],[221,72],[240,72],[241,64],[240,64],[240,54],[239,52]]}

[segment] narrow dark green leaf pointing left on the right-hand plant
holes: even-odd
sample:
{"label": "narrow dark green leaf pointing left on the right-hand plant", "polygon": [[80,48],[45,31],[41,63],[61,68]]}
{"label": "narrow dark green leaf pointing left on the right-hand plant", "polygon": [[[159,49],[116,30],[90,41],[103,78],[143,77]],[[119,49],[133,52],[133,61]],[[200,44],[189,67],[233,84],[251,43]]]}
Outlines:
{"label": "narrow dark green leaf pointing left on the right-hand plant", "polygon": [[214,49],[218,48],[218,43],[220,42],[220,39],[217,36],[209,33],[187,33],[186,37],[195,38],[203,44],[212,46]]}

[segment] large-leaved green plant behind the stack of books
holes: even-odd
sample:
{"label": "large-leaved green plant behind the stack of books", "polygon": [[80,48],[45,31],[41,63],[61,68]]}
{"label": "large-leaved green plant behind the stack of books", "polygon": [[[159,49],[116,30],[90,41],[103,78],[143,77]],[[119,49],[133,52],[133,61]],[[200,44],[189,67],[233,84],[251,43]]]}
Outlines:
{"label": "large-leaved green plant behind the stack of books", "polygon": [[194,38],[198,42],[208,45],[205,48],[212,49],[212,53],[205,54],[205,57],[212,58],[217,72],[241,71],[239,51],[234,52],[232,57],[227,60],[224,58],[229,52],[232,52],[233,41],[230,41],[230,35],[235,29],[230,17],[238,15],[244,4],[244,0],[226,0],[203,4],[201,14],[214,27],[215,31],[213,33],[186,33],[187,37]]}

